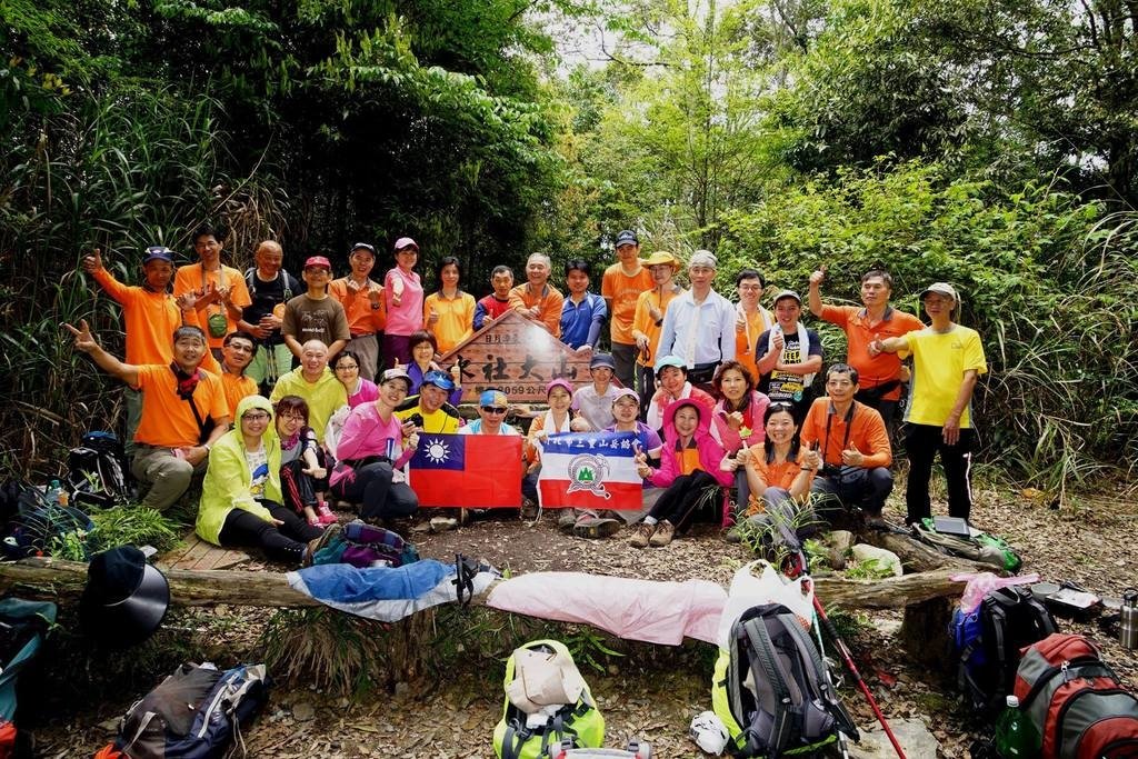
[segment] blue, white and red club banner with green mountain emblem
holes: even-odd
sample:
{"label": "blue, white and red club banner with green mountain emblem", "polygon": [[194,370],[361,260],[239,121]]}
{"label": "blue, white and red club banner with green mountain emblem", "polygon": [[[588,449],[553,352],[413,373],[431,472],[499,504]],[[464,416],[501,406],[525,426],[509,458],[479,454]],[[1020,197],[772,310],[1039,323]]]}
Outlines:
{"label": "blue, white and red club banner with green mountain emblem", "polygon": [[542,444],[543,509],[640,511],[635,432],[566,432]]}

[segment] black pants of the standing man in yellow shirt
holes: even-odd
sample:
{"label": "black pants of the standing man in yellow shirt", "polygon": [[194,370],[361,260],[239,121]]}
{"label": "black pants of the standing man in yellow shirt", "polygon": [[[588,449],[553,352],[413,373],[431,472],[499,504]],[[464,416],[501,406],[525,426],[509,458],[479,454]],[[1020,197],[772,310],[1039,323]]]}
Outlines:
{"label": "black pants of the standing man in yellow shirt", "polygon": [[950,517],[967,519],[972,513],[972,445],[976,431],[962,429],[956,445],[945,445],[942,427],[906,427],[905,451],[909,456],[909,481],[905,489],[905,521],[912,525],[924,517],[932,517],[929,480],[932,477],[932,462],[938,453],[948,481],[948,513]]}

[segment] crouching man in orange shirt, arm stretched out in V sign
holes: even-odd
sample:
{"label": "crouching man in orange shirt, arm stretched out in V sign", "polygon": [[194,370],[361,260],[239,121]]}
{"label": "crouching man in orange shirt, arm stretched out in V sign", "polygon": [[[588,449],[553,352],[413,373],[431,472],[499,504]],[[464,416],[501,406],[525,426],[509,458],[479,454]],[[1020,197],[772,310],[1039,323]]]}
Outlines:
{"label": "crouching man in orange shirt, arm stretched out in V sign", "polygon": [[91,356],[100,369],[142,391],[142,422],[134,434],[131,472],[150,484],[143,506],[159,511],[178,501],[193,472],[204,472],[209,448],[229,429],[221,380],[199,365],[208,348],[197,327],[179,327],[173,336],[170,364],[124,364],[104,350],[86,321],[75,329],[75,349]]}

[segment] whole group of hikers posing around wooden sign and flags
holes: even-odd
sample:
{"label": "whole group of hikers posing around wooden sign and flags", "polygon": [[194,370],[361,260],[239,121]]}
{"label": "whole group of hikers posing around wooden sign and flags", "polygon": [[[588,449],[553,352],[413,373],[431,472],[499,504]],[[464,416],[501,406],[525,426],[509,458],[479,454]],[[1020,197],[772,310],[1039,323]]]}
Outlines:
{"label": "whole group of hikers posing around wooden sign and flags", "polygon": [[[500,389],[481,391],[478,418],[464,421],[460,366],[439,363],[508,313],[589,358],[589,381],[551,380],[549,410],[530,422],[523,513],[537,505],[549,436],[615,430],[636,436],[642,512],[563,509],[559,527],[608,537],[632,522],[632,546],[663,546],[701,510],[720,509],[729,487],[743,517],[729,541],[741,539],[748,523],[801,521],[811,508],[881,522],[907,383],[906,519],[931,514],[938,454],[950,514],[970,515],[971,399],[987,365],[979,335],[954,321],[960,300],[948,283],[921,294],[927,325],[890,305],[892,279],[880,269],[861,277],[860,307],[823,300],[823,267],[810,275],[805,303],[785,289],[768,311],[758,269],[737,273],[733,302],[715,290],[716,256],[696,250],[684,289],[679,258],[662,250],[642,257],[636,233],[622,231],[600,295],[591,290],[588,262],[566,264],[562,294],[551,282],[550,257],[535,253],[525,282],[514,284],[511,269],[496,266],[490,292],[476,300],[450,256],[436,267],[437,291],[427,295],[415,271],[419,246],[407,237],[394,244],[382,282],[371,278],[379,254],[369,244],[352,246],[345,277],[333,279],[331,262],[318,255],[297,281],[282,267],[278,242],[259,244],[242,273],[222,264],[223,239],[213,229],[195,232],[198,262],[176,273],[174,251],[147,248],[139,286],[116,280],[98,250],[83,258],[83,270],[122,306],[123,361],[85,322],[67,325],[76,349],[126,383],[131,471],[149,488],[141,503],[166,509],[204,473],[197,531],[211,543],[311,561],[338,529],[332,504],[356,506],[366,520],[415,513],[405,464],[420,434],[521,436],[505,421],[510,399]],[[822,341],[801,322],[803,306],[848,339],[846,362],[825,368],[823,397],[811,389],[824,369]]]}

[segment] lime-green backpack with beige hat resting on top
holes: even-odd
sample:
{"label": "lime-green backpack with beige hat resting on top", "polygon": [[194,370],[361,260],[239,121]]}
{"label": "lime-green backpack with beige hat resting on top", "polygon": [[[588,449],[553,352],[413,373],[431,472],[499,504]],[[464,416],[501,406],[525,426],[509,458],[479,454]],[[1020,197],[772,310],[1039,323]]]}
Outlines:
{"label": "lime-green backpack with beige hat resting on top", "polygon": [[[531,641],[516,650],[505,662],[503,687],[509,688],[514,680],[516,657],[522,650],[560,654],[570,662],[569,649],[559,641]],[[558,710],[545,725],[527,727],[528,715],[505,696],[502,719],[494,726],[494,753],[498,759],[546,759],[550,746],[559,746],[570,741],[574,748],[596,749],[604,744],[604,717],[596,709],[593,694],[585,685],[577,703],[569,703]]]}

